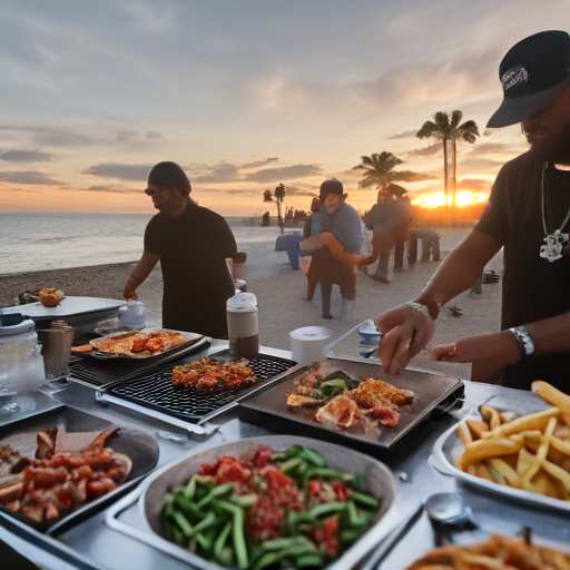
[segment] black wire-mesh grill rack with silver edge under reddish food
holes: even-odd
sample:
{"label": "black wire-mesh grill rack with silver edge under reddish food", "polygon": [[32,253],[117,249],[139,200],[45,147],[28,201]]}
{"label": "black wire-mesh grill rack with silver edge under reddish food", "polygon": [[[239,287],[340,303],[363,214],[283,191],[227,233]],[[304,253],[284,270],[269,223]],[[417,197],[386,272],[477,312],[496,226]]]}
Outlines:
{"label": "black wire-mesh grill rack with silver edge under reddish food", "polygon": [[[210,354],[209,357],[227,361],[228,350]],[[128,379],[112,382],[99,390],[98,399],[136,409],[161,420],[165,420],[166,415],[170,419],[202,425],[237,405],[238,401],[259,387],[265,387],[296,365],[295,362],[286,358],[259,354],[248,361],[256,377],[255,384],[250,386],[210,393],[198,392],[195,387],[174,386],[174,366],[193,360],[196,360],[196,356],[178,360],[153,371],[140,372]],[[166,421],[178,423],[168,419]]]}

